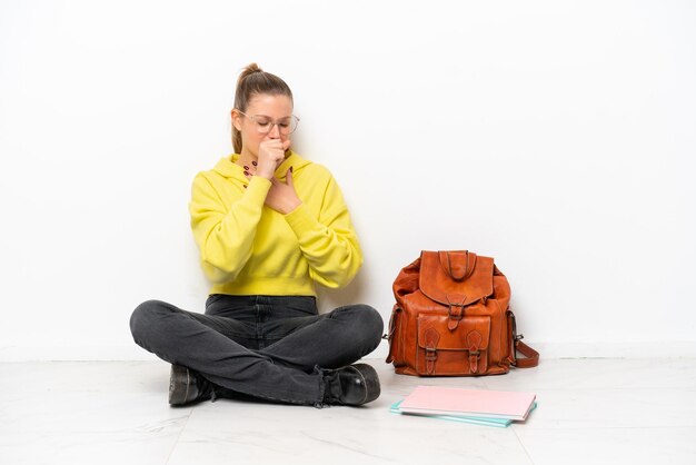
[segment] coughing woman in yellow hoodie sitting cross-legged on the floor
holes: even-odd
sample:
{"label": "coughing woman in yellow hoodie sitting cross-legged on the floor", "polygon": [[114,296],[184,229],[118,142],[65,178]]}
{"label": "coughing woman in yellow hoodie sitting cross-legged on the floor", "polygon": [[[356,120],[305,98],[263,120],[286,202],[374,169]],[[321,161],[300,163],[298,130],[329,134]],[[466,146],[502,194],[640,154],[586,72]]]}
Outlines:
{"label": "coughing woman in yellow hoodie sitting cross-legged on the floor", "polygon": [[347,285],[362,264],[330,172],[295,154],[292,92],[249,65],[231,111],[235,154],[198,174],[189,205],[205,315],[148,300],[133,339],[172,364],[169,403],[241,393],[275,402],[361,405],[379,396],[367,364],[382,319],[366,305],[319,315],[315,284]]}

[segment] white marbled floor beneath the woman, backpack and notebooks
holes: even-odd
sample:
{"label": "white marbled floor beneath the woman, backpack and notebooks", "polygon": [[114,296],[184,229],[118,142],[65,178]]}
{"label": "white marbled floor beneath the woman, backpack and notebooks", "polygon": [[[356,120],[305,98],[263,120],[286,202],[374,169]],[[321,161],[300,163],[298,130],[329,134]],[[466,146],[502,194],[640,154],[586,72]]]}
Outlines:
{"label": "white marbled floor beneath the woman, backpack and notebooks", "polygon": [[[0,464],[696,464],[696,359],[555,359],[486,378],[414,378],[367,360],[361,408],[167,404],[159,362],[0,364]],[[399,416],[418,384],[531,390],[508,428]]]}

